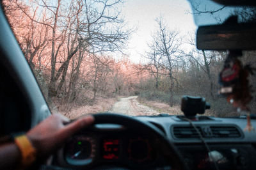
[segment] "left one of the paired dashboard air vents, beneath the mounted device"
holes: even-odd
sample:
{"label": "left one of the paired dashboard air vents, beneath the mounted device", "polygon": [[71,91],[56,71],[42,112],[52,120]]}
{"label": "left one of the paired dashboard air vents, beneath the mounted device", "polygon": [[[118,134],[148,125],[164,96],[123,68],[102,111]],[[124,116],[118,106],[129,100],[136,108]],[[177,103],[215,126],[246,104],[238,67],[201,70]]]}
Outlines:
{"label": "left one of the paired dashboard air vents, beneath the mounted device", "polygon": [[[201,132],[201,128],[197,127]],[[173,127],[173,135],[176,138],[199,138],[198,133],[193,127]]]}

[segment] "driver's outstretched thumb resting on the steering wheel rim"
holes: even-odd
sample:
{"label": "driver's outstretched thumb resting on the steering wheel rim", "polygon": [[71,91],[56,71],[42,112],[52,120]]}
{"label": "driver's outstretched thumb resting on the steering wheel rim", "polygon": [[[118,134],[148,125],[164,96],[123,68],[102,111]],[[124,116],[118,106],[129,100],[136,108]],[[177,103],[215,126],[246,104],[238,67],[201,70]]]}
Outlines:
{"label": "driver's outstretched thumb resting on the steering wheel rim", "polygon": [[94,121],[93,116],[85,116],[84,118],[81,118],[79,120],[76,120],[72,123],[69,123],[63,131],[67,136],[70,136],[74,133],[76,133],[81,128],[87,127],[88,125],[91,125]]}

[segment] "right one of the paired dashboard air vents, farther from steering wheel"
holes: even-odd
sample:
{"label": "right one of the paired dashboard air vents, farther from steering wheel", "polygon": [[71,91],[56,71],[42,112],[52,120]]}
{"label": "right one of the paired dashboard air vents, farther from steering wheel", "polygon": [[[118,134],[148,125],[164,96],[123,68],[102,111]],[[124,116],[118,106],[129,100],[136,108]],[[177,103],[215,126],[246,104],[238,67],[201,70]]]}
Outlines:
{"label": "right one of the paired dashboard air vents, farther from steering wheel", "polygon": [[223,138],[241,137],[241,133],[236,127],[211,126],[211,131],[212,131],[212,137],[223,137]]}

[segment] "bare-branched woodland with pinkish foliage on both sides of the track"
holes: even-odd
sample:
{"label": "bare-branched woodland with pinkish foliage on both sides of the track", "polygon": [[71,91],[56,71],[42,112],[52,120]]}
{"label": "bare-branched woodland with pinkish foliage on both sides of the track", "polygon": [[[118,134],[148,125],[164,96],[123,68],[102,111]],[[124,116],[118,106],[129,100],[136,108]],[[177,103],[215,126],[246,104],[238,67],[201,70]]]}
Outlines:
{"label": "bare-branched woodland with pinkish foliage on both sides of the track", "polygon": [[[136,28],[127,27],[120,15],[122,4],[121,0],[3,1],[52,112],[74,118],[80,116],[76,112],[109,111],[118,98],[132,95],[141,102],[179,107],[182,95],[193,95],[211,104],[208,115],[240,114],[218,94],[227,51],[198,50],[195,33],[181,36],[157,17],[149,50],[141,54],[143,62],[134,63],[124,51]],[[184,44],[193,50],[184,49]],[[255,66],[255,54],[243,52],[241,61]],[[255,89],[255,75],[250,75],[250,83]],[[252,112],[255,103],[253,98]]]}

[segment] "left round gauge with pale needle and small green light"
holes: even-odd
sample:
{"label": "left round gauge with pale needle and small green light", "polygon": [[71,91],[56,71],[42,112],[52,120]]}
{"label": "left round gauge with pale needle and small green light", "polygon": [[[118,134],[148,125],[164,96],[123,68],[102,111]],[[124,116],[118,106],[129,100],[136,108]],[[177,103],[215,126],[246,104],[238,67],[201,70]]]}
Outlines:
{"label": "left round gauge with pale needle and small green light", "polygon": [[93,137],[75,136],[65,146],[65,160],[72,165],[87,165],[95,157],[96,144]]}

